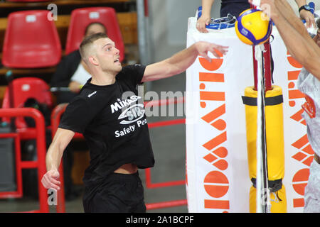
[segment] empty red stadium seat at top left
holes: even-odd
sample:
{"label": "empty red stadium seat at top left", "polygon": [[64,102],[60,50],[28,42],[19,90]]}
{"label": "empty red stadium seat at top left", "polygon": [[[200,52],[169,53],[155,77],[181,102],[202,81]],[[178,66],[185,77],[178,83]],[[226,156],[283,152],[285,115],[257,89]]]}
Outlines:
{"label": "empty red stadium seat at top left", "polygon": [[61,45],[55,23],[46,10],[10,13],[4,36],[2,64],[12,68],[53,67]]}

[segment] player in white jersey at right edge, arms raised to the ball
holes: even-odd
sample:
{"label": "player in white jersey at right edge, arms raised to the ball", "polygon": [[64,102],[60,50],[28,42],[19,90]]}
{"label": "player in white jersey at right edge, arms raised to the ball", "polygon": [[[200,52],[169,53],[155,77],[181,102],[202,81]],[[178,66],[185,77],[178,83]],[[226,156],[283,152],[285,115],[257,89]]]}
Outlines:
{"label": "player in white jersey at right edge, arms raised to the ball", "polygon": [[[252,3],[252,0],[249,0]],[[294,14],[286,0],[262,0],[260,7],[277,26],[290,54],[304,68],[299,74],[297,86],[306,95],[302,106],[309,143],[314,150],[309,181],[304,192],[304,212],[320,212],[320,21],[312,39],[302,21]]]}

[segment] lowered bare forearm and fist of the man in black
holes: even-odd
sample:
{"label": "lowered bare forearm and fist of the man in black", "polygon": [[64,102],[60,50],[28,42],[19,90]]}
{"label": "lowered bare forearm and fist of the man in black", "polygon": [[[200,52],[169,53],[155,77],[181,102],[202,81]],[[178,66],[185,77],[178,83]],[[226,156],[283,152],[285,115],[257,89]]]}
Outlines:
{"label": "lowered bare forearm and fist of the man in black", "polygon": [[46,189],[60,189],[60,182],[58,181],[60,175],[58,172],[58,168],[63,156],[63,151],[70,143],[73,135],[75,135],[73,131],[63,128],[58,128],[58,130],[56,131],[46,155],[47,172],[41,179],[43,187],[45,187]]}

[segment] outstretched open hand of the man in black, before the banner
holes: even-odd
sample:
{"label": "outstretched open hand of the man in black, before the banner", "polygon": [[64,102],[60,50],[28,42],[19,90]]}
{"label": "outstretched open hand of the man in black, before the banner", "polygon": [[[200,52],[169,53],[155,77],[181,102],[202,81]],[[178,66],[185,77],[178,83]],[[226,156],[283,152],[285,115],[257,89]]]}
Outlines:
{"label": "outstretched open hand of the man in black, before the banner", "polygon": [[211,58],[208,56],[209,51],[212,52],[215,57],[220,58],[221,54],[225,55],[228,52],[229,47],[208,42],[198,42],[196,43],[196,48],[199,55],[211,62]]}

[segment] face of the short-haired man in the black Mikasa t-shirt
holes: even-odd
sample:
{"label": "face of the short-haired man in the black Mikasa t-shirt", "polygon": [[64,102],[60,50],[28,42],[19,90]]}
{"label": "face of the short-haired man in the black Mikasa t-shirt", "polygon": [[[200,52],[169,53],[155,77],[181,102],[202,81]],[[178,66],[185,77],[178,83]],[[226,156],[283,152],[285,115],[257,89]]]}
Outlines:
{"label": "face of the short-haired man in the black Mikasa t-shirt", "polygon": [[95,40],[95,48],[96,57],[102,71],[117,74],[122,70],[119,50],[115,48],[114,42],[110,38]]}

